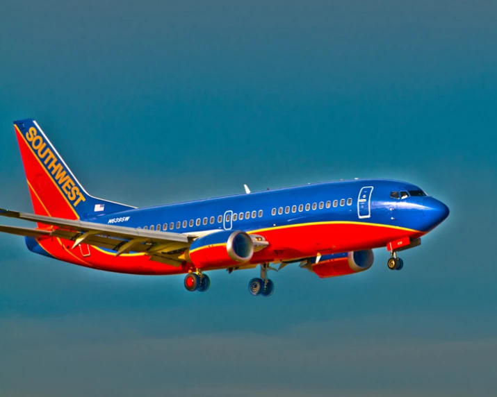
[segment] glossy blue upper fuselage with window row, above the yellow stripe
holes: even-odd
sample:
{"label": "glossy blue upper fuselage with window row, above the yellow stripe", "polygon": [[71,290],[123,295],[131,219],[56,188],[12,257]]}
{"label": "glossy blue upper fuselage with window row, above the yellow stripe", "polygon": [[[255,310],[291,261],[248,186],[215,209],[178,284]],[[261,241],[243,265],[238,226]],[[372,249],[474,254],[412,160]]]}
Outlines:
{"label": "glossy blue upper fuselage with window row, above the yellow stripe", "polygon": [[424,234],[447,216],[446,205],[415,185],[398,180],[359,179],[132,209],[89,220],[174,233],[213,229],[250,231],[350,221]]}

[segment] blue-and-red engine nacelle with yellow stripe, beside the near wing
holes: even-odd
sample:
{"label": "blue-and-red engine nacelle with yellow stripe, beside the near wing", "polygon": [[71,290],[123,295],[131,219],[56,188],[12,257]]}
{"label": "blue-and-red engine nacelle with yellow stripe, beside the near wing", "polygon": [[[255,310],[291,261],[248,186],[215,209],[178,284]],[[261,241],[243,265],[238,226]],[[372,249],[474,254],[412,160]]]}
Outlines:
{"label": "blue-and-red engine nacelle with yellow stripe, beside the near wing", "polygon": [[254,242],[245,232],[222,230],[196,239],[188,255],[199,269],[231,266],[252,259]]}

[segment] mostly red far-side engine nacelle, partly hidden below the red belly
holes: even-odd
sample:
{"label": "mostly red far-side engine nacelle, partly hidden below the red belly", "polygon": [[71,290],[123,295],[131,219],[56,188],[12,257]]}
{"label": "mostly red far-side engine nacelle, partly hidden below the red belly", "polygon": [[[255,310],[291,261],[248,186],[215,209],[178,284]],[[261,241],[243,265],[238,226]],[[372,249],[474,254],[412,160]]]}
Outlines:
{"label": "mostly red far-side engine nacelle, partly hidden below the red belly", "polygon": [[311,258],[307,269],[316,273],[320,278],[345,276],[346,274],[358,273],[368,270],[373,266],[375,255],[373,251],[352,251],[349,253],[334,253],[323,255],[316,263],[316,258]]}

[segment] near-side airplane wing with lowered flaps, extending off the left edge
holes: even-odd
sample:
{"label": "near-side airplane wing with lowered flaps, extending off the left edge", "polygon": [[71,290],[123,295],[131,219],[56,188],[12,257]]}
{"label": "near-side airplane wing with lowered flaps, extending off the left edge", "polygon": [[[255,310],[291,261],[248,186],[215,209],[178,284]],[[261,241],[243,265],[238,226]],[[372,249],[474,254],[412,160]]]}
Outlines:
{"label": "near-side airplane wing with lowered flaps, extending off the left edge", "polygon": [[44,215],[28,214],[25,212],[9,211],[0,208],[0,216],[24,219],[54,226],[51,230],[20,228],[15,226],[0,226],[0,232],[29,237],[58,237],[74,242],[72,248],[81,243],[107,248],[116,251],[115,255],[139,252],[151,256],[151,260],[180,266],[184,251],[193,241],[181,233],[158,232],[124,226],[111,226],[85,221],[45,217]]}

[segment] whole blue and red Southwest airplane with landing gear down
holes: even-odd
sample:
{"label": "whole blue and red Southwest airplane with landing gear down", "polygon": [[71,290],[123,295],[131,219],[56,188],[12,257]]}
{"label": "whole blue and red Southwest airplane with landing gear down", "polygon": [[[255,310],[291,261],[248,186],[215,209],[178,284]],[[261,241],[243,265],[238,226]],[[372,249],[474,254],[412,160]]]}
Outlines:
{"label": "whole blue and red Southwest airplane with landing gear down", "polygon": [[[441,201],[411,183],[339,180],[135,208],[90,196],[34,119],[14,121],[33,214],[2,217],[37,223],[0,226],[24,236],[33,253],[92,269],[138,275],[185,274],[190,292],[206,292],[216,269],[260,267],[253,296],[271,296],[271,270],[298,264],[320,278],[359,273],[386,247],[398,271],[400,251],[448,217]],[[278,268],[276,268],[278,267]]]}

